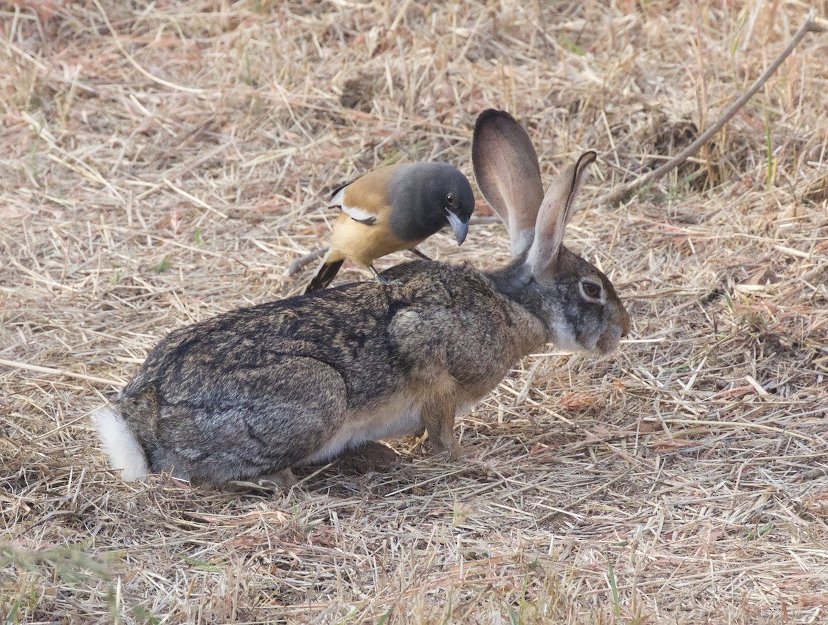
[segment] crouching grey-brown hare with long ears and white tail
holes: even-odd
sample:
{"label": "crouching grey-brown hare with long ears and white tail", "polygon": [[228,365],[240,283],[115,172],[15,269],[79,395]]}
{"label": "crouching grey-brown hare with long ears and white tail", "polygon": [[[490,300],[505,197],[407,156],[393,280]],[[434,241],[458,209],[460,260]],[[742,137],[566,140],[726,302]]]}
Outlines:
{"label": "crouching grey-brown hare with long ears and white tail", "polygon": [[416,260],[392,282],[344,284],[171,332],[97,413],[126,479],[171,471],[203,485],[293,481],[291,468],[423,427],[459,457],[455,416],[548,342],[614,351],[629,317],[609,279],[563,245],[585,153],[543,192],[537,155],[511,115],[480,114],[479,187],[508,227],[512,261]]}

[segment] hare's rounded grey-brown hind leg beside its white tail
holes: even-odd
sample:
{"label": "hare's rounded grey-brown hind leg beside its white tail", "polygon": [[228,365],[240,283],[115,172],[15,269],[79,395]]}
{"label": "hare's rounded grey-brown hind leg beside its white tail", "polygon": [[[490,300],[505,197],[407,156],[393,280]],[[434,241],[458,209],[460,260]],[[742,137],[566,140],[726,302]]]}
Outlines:
{"label": "hare's rounded grey-brown hind leg beside its white tail", "polygon": [[286,357],[166,405],[153,468],[210,483],[286,481],[287,470],[341,428],[346,411],[342,375],[315,358]]}

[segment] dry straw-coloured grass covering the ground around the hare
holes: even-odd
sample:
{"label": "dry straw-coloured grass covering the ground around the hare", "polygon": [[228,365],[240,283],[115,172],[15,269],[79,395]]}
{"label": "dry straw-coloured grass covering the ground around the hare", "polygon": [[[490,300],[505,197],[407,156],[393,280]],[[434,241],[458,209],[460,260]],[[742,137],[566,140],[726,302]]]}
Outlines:
{"label": "dry straw-coloured grass covering the ground around the hare", "polygon": [[[700,157],[601,201],[712,123],[804,3],[13,5],[5,623],[826,620],[828,35]],[[396,471],[258,495],[107,471],[88,414],[166,332],[295,288],[320,198],[354,172],[436,158],[471,176],[492,106],[527,124],[547,180],[599,152],[568,240],[626,298],[617,356],[524,361],[459,424],[487,449],[469,462],[394,441]],[[507,242],[479,225],[425,250],[493,266]]]}

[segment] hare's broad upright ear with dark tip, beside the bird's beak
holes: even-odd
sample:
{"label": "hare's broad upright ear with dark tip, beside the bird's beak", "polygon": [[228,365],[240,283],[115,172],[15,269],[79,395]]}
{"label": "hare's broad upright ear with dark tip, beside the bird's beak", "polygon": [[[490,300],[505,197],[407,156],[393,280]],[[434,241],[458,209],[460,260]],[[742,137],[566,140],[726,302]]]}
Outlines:
{"label": "hare's broad upright ear with dark tip, beside the bird's beak", "polygon": [[474,177],[509,231],[514,258],[532,245],[543,201],[541,167],[526,130],[506,111],[484,110],[474,124]]}

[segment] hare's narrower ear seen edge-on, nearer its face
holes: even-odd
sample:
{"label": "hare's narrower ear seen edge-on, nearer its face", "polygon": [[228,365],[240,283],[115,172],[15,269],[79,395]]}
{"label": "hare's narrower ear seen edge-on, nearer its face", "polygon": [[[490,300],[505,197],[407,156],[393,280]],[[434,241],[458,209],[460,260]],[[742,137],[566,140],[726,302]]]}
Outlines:
{"label": "hare's narrower ear seen edge-on, nearer its face", "polygon": [[561,176],[546,191],[541,210],[537,214],[535,237],[529,248],[526,263],[532,275],[541,274],[556,259],[564,230],[572,215],[572,205],[578,195],[581,179],[586,167],[595,162],[595,152],[580,155],[575,165],[566,168]]}

